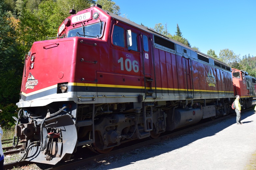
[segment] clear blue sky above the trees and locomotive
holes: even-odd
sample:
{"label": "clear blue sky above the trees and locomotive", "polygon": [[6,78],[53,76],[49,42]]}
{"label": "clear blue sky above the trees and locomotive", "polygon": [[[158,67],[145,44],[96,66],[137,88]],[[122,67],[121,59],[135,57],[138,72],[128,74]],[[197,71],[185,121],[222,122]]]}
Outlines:
{"label": "clear blue sky above the trees and locomotive", "polygon": [[154,28],[167,24],[174,35],[179,25],[182,37],[205,54],[219,56],[229,49],[236,55],[256,56],[256,0],[112,0],[121,15]]}

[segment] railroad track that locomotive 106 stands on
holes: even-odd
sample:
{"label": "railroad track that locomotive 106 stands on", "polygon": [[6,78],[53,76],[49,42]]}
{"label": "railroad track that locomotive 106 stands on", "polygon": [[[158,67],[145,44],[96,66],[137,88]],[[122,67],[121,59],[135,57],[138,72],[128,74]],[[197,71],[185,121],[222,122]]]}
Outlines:
{"label": "railroad track that locomotive 106 stands on", "polygon": [[[59,166],[58,166],[58,164],[55,165],[55,166],[49,165],[49,168],[47,168],[47,170],[73,169],[75,167],[84,166],[84,165],[86,165],[88,163],[91,163],[91,162],[94,162],[94,161],[100,161],[100,160],[109,158],[109,157],[114,156],[114,155],[118,155],[118,154],[128,152],[128,151],[131,151],[131,150],[135,150],[135,149],[141,148],[143,146],[147,146],[147,145],[150,145],[150,144],[153,144],[153,143],[164,141],[164,140],[169,139],[169,138],[173,138],[175,136],[178,136],[180,134],[192,131],[194,129],[201,128],[201,127],[210,125],[212,123],[215,123],[215,122],[218,122],[218,121],[221,121],[221,120],[224,120],[224,119],[228,119],[231,116],[232,116],[232,114],[227,115],[225,117],[218,118],[216,120],[201,123],[201,124],[198,124],[198,125],[195,125],[195,126],[192,126],[192,127],[184,128],[182,130],[178,130],[178,131],[172,132],[170,134],[164,134],[164,135],[162,135],[162,136],[160,136],[156,139],[150,139],[150,140],[145,140],[145,141],[138,140],[139,143],[135,143],[135,144],[129,145],[127,147],[123,147],[123,148],[120,148],[120,149],[113,150],[110,153],[98,154],[98,155],[90,156],[90,157],[86,157],[86,158],[79,158],[79,160],[74,159],[74,160],[67,161],[67,162],[61,162],[60,163],[61,165],[59,165]],[[26,166],[28,164],[31,164],[31,162],[21,161],[21,162],[18,162],[18,163],[17,162],[8,163],[8,164],[4,164],[4,169],[12,169],[13,167],[18,167],[18,166],[22,167],[22,166]]]}

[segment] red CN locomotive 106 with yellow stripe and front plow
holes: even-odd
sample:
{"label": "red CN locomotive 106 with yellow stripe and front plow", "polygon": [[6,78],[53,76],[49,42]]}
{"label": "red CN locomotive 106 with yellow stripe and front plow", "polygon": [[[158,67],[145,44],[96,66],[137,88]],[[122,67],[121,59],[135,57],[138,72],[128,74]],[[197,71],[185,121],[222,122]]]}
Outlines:
{"label": "red CN locomotive 106 with yellow stripe and front plow", "polygon": [[226,64],[99,5],[70,14],[25,58],[22,159],[56,164],[79,146],[106,153],[230,112]]}

